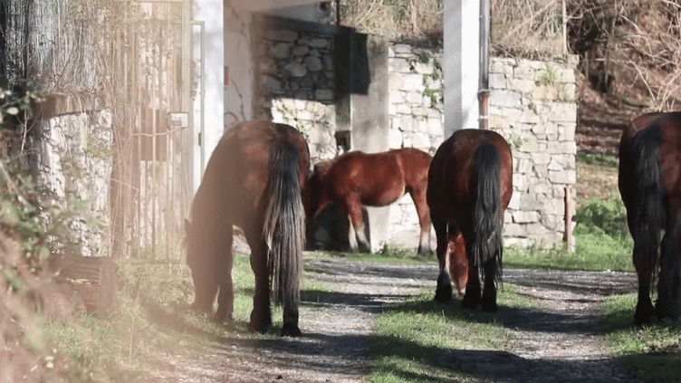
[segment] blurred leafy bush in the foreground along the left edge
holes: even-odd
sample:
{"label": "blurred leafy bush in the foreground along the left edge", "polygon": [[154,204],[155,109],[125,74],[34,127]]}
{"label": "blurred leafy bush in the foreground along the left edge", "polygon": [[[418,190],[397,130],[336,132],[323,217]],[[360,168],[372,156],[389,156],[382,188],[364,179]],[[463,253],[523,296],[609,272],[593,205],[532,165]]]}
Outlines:
{"label": "blurred leafy bush in the foreground along the left edge", "polygon": [[33,91],[21,96],[0,86],[0,382],[65,380],[57,376],[35,314],[59,315],[59,291],[44,265],[53,244],[65,243],[69,223],[15,160],[24,153],[11,150],[23,112],[36,100]]}

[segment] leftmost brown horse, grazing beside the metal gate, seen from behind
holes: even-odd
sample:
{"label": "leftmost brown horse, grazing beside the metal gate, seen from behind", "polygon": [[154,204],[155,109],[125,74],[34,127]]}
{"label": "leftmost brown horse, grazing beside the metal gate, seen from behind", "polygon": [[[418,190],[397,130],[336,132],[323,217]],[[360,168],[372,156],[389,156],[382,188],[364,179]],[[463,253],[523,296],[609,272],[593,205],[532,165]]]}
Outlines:
{"label": "leftmost brown horse, grazing beside the metal gate, seen from behind", "polygon": [[272,324],[272,287],[275,303],[283,305],[282,335],[301,334],[302,192],[309,167],[307,143],[288,125],[246,121],[226,130],[192,202],[191,224],[186,222],[195,310],[210,311],[219,290],[216,320],[232,321],[232,225],[237,225],[251,247],[255,273],[248,329],[264,332]]}

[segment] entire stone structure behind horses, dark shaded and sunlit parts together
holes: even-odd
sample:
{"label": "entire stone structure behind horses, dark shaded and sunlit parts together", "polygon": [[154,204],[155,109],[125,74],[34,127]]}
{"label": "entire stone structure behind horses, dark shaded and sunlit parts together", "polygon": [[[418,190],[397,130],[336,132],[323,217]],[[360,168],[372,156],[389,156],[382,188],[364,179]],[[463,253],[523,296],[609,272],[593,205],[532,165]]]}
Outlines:
{"label": "entire stone structure behind horses, dark shaded and sunlit parts together", "polygon": [[[301,129],[314,160],[346,150],[404,147],[433,154],[445,139],[442,49],[324,24],[272,18],[263,25],[263,38],[254,40],[259,42],[254,114]],[[353,77],[358,62],[368,62],[371,85],[364,94],[353,91],[366,80]],[[575,65],[572,57],[565,62],[491,60],[490,129],[508,140],[514,158],[506,244],[551,246],[563,239],[565,190],[576,182]],[[348,82],[350,89],[344,85]],[[409,196],[368,210],[374,250],[385,243],[417,244],[418,221]]]}

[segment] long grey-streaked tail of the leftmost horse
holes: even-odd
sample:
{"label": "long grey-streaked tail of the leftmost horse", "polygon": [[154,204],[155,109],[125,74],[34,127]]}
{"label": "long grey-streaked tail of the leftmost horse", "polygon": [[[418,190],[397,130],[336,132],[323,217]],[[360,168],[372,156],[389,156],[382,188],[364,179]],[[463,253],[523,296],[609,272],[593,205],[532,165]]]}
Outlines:
{"label": "long grey-streaked tail of the leftmost horse", "polygon": [[[276,141],[268,164],[265,188],[264,240],[275,304],[297,308],[300,303],[305,210],[298,183],[298,151],[289,142]],[[297,309],[296,309],[297,310]]]}

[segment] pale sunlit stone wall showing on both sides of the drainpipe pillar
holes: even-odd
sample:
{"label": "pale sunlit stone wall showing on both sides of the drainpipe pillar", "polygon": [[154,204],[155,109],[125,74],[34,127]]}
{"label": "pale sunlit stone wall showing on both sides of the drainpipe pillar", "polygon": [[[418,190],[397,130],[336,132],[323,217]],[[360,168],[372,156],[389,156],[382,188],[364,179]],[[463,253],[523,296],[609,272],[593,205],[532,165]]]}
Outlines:
{"label": "pale sunlit stone wall showing on both sides of the drainpipe pillar", "polygon": [[[413,146],[433,154],[444,140],[441,60],[441,51],[391,46],[390,148]],[[490,129],[513,148],[504,244],[547,247],[563,240],[565,189],[577,182],[576,65],[574,56],[567,62],[490,61]],[[417,222],[411,198],[403,197],[390,207],[391,241],[416,244]]]}

